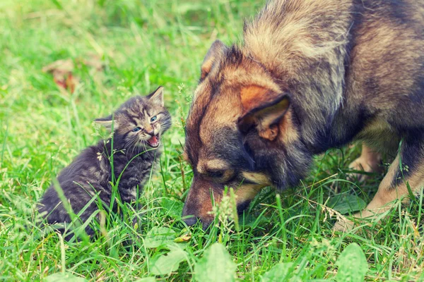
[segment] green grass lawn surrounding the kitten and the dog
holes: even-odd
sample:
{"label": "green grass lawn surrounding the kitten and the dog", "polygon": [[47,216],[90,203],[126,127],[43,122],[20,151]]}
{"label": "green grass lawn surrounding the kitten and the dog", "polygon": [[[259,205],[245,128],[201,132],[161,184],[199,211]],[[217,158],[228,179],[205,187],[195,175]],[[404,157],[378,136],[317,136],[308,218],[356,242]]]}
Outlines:
{"label": "green grass lawn surrounding the kitten and the dog", "polygon": [[[317,157],[310,177],[284,192],[281,202],[265,189],[249,214],[240,216],[238,228],[232,221],[217,221],[210,233],[204,233],[199,226],[188,229],[182,223],[182,204],[192,178],[191,168],[181,160],[182,121],[200,63],[214,39],[240,41],[243,18],[254,15],[262,4],[0,2],[1,281],[40,281],[59,272],[89,281],[194,281],[194,272],[218,267],[204,256],[216,242],[228,250],[238,281],[261,281],[276,265],[288,269],[291,281],[334,281],[341,267],[339,255],[351,243],[365,253],[367,281],[424,280],[423,195],[407,207],[398,205],[371,228],[355,234],[331,232],[335,216],[329,203],[335,195],[348,192],[353,199],[369,202],[382,179],[372,175],[366,183],[346,181],[346,168],[358,156],[355,148]],[[78,63],[93,54],[105,64],[100,72]],[[73,94],[59,90],[52,75],[42,72],[59,59],[76,62],[73,74],[79,83]],[[93,119],[110,114],[131,94],[147,94],[158,85],[165,85],[173,126],[165,136],[160,167],[140,199],[143,213],[122,207],[126,216],[110,216],[103,235],[93,242],[63,243],[57,233],[37,228],[35,202],[61,168],[96,142]],[[134,216],[139,228],[130,224]],[[222,216],[231,219],[232,213],[224,209]],[[169,234],[151,236],[158,228]],[[182,242],[173,242],[175,238]],[[169,266],[166,259],[175,257],[181,262],[176,270],[155,275],[160,259]],[[219,273],[231,269],[225,256],[216,260],[221,262]],[[355,263],[351,261],[353,267]]]}

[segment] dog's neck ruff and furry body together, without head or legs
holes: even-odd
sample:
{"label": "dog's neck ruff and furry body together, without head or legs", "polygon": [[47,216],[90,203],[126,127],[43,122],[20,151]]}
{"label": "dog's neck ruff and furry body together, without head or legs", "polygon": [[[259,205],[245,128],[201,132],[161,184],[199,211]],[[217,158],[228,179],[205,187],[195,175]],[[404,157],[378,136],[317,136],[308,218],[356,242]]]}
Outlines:
{"label": "dog's neck ruff and furry body together, without head or legs", "polygon": [[311,144],[331,125],[322,151],[367,123],[424,124],[423,15],[424,1],[270,1],[246,25],[245,51],[285,80]]}

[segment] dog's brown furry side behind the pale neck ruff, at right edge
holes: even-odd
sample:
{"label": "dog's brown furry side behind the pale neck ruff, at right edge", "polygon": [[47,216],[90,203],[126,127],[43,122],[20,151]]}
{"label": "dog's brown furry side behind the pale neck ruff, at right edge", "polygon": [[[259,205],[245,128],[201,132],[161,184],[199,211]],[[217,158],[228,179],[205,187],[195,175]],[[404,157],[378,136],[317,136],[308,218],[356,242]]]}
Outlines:
{"label": "dog's brown furry side behind the pale neck ruff, at right edge", "polygon": [[355,18],[363,20],[351,31],[346,104],[365,106],[399,136],[424,128],[424,1],[361,2]]}

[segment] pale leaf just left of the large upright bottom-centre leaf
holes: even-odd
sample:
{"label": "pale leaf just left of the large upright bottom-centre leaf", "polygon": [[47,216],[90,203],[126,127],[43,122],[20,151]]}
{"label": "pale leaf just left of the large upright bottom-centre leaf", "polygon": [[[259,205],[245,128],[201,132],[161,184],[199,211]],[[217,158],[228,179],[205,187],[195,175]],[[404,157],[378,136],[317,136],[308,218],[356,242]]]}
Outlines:
{"label": "pale leaf just left of the large upright bottom-centre leaf", "polygon": [[187,253],[179,247],[172,247],[167,254],[160,255],[151,260],[149,266],[152,274],[165,275],[177,271],[179,263],[184,261]]}

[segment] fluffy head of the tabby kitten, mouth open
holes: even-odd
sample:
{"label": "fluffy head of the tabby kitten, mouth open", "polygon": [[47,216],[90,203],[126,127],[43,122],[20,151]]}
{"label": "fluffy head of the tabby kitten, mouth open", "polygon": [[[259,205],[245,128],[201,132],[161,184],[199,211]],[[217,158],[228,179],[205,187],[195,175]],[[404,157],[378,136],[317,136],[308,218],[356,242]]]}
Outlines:
{"label": "fluffy head of the tabby kitten, mouth open", "polygon": [[171,125],[170,113],[163,106],[163,87],[145,97],[132,97],[114,112],[113,120],[110,115],[95,122],[113,126],[114,142],[124,149],[159,147],[160,136]]}

